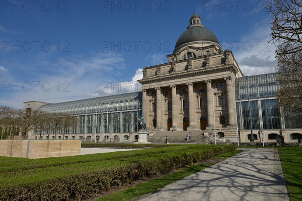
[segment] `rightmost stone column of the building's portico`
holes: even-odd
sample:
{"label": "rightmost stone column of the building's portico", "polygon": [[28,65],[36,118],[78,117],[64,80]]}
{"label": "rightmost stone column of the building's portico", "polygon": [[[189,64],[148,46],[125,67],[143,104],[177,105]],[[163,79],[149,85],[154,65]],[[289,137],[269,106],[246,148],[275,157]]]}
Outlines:
{"label": "rightmost stone column of the building's portico", "polygon": [[228,112],[229,112],[229,125],[236,125],[236,114],[235,114],[235,95],[234,88],[232,85],[232,77],[224,77],[226,82],[226,97],[228,99]]}

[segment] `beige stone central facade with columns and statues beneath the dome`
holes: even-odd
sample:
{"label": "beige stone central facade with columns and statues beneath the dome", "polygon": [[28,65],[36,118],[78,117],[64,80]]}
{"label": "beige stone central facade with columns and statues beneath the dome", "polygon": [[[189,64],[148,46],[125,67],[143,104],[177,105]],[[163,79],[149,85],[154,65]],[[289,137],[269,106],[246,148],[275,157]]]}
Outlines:
{"label": "beige stone central facade with columns and statues beneath the dome", "polygon": [[[197,27],[203,31],[203,25],[192,23],[200,18],[192,18],[188,30]],[[179,41],[186,42],[183,35]],[[143,69],[138,81],[142,84],[142,114],[149,129],[196,128],[211,133],[215,123],[225,137],[236,137],[235,78],[243,73],[233,53],[222,51],[212,38],[215,36],[209,41],[178,41],[167,63]]]}

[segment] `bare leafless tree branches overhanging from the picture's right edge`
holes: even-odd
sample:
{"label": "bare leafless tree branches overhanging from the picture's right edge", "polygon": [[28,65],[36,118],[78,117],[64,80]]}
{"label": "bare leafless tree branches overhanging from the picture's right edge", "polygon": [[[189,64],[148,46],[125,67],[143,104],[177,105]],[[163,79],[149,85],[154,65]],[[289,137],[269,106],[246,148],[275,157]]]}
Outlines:
{"label": "bare leafless tree branches overhanging from the picture's right edge", "polygon": [[272,16],[271,36],[277,44],[280,106],[302,112],[302,2],[273,0],[266,10]]}

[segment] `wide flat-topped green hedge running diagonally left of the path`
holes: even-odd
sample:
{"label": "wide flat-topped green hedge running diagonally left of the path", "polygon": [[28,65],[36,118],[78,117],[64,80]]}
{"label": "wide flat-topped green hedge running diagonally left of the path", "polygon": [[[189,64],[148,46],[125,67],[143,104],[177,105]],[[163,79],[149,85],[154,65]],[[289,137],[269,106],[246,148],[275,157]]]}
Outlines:
{"label": "wide flat-topped green hedge running diagonally left of the path", "polygon": [[82,200],[237,148],[196,144],[156,147],[57,158],[0,157],[0,200]]}

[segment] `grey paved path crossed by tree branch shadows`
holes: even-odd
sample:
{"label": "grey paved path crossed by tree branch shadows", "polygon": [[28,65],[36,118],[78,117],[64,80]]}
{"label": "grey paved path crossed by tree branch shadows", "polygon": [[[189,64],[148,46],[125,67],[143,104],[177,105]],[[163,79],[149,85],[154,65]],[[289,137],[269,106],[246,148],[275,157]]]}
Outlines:
{"label": "grey paved path crossed by tree branch shadows", "polygon": [[289,200],[277,149],[243,150],[140,200]]}

